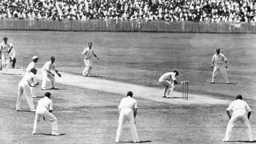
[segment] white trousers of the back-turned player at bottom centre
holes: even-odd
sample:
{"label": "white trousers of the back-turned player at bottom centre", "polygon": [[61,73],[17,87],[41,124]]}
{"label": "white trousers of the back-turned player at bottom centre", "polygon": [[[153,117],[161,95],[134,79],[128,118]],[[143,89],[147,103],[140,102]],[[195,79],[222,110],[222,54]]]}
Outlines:
{"label": "white trousers of the back-turned player at bottom centre", "polygon": [[139,137],[136,131],[136,127],[135,127],[135,120],[134,120],[134,111],[132,109],[130,109],[129,107],[125,107],[122,108],[119,114],[119,125],[117,128],[117,136],[115,137],[115,142],[119,142],[120,141],[120,135],[122,134],[122,129],[124,126],[124,123],[126,122],[126,120],[128,122],[130,122],[130,128],[132,131],[132,139],[134,142],[139,142]]}

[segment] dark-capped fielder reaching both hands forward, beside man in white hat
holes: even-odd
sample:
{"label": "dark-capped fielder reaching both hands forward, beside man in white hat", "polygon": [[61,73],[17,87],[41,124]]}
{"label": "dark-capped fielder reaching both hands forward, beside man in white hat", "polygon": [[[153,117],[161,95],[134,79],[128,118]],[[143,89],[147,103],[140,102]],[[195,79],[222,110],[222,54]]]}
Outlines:
{"label": "dark-capped fielder reaching both hands forward, beside man in white hat", "polygon": [[55,57],[52,56],[51,60],[47,61],[45,63],[45,65],[43,66],[43,68],[41,69],[42,76],[43,76],[43,81],[42,81],[42,85],[41,85],[42,90],[46,90],[46,88],[45,88],[46,78],[50,79],[50,81],[51,81],[50,89],[58,89],[55,87],[55,78],[54,78],[55,75],[50,71],[51,69],[53,69],[56,72],[56,74],[58,74],[58,76],[61,77],[61,74],[59,74],[54,61],[55,61]]}

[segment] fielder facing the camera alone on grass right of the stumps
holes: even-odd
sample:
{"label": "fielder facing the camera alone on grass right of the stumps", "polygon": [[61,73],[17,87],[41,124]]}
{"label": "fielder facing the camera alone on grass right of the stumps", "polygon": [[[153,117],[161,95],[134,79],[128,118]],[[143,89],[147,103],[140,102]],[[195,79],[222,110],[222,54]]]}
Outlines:
{"label": "fielder facing the camera alone on grass right of the stumps", "polygon": [[213,73],[212,73],[212,80],[210,83],[215,83],[215,76],[220,70],[226,83],[228,83],[228,75],[226,73],[226,68],[228,68],[227,59],[226,57],[220,53],[221,50],[219,48],[216,49],[216,54],[212,57],[211,68],[213,68],[213,63],[215,63]]}

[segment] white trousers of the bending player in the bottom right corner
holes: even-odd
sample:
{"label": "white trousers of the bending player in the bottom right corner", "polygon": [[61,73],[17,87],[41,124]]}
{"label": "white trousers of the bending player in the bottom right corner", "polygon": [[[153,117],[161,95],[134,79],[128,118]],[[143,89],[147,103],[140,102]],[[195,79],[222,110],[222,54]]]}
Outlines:
{"label": "white trousers of the bending player in the bottom right corner", "polygon": [[233,112],[232,117],[230,118],[230,120],[228,122],[228,126],[227,126],[227,129],[226,129],[226,135],[225,135],[224,139],[229,140],[232,128],[234,126],[236,126],[236,123],[239,122],[239,121],[241,121],[245,124],[245,130],[246,130],[246,133],[249,137],[249,140],[253,140],[252,139],[252,129],[250,127],[246,111],[244,109],[237,109],[235,111],[235,113]]}

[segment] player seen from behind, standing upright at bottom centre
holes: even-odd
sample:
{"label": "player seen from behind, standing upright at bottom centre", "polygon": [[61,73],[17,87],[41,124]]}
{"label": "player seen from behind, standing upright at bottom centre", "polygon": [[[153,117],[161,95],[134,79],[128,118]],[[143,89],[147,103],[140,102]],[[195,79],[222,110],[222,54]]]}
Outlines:
{"label": "player seen from behind, standing upright at bottom centre", "polygon": [[125,121],[130,122],[130,128],[132,131],[132,139],[134,142],[139,142],[139,137],[135,127],[135,116],[137,114],[137,102],[134,98],[132,98],[133,93],[131,91],[127,92],[127,97],[123,98],[118,106],[119,113],[119,125],[117,128],[117,136],[115,138],[115,142],[120,141],[120,135],[122,133],[122,129]]}

